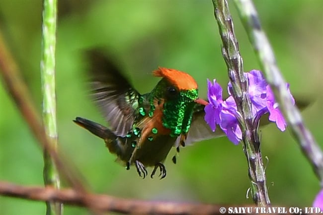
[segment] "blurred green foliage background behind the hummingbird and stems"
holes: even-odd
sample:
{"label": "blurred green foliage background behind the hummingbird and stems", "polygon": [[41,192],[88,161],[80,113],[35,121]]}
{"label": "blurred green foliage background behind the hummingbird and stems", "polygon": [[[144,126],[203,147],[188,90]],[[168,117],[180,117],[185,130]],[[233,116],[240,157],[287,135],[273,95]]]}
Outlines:
{"label": "blurred green foliage background behind the hummingbird and stems", "polygon": [[[297,97],[312,100],[303,111],[306,125],[323,147],[323,1],[255,0],[278,65]],[[244,70],[259,68],[233,2],[230,2]],[[40,45],[42,5],[38,0],[1,0],[0,29],[41,112]],[[227,138],[196,143],[181,150],[174,165],[165,161],[167,177],[145,180],[135,168],[114,162],[103,141],[75,125],[82,116],[104,123],[88,98],[81,50],[105,47],[141,93],[159,78],[158,66],[190,73],[206,97],[206,79],[228,83],[211,0],[60,0],[57,31],[57,116],[60,151],[78,168],[93,192],[123,198],[252,204],[242,146]],[[272,204],[312,205],[320,190],[311,165],[289,131],[275,125],[261,129],[262,155],[268,157],[267,186]],[[42,150],[0,82],[0,179],[42,185]],[[151,169],[149,169],[151,171]],[[63,181],[63,187],[67,184]],[[65,206],[65,215],[85,209]],[[41,215],[45,204],[0,197],[2,215]]]}

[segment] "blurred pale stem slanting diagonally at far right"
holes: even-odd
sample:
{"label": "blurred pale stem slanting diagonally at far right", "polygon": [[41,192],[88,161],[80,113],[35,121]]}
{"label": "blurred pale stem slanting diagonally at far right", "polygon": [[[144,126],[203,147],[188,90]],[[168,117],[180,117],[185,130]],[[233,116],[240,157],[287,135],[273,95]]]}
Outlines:
{"label": "blurred pale stem slanting diagonally at far right", "polygon": [[265,72],[267,81],[275,94],[275,99],[279,103],[280,109],[283,111],[291,131],[298,141],[306,158],[310,161],[313,169],[323,187],[323,153],[311,132],[306,128],[301,113],[296,106],[293,105],[286,88],[284,80],[277,64],[275,55],[262,30],[258,14],[252,1],[235,0],[243,26],[248,34],[249,41],[260,62],[262,71]]}

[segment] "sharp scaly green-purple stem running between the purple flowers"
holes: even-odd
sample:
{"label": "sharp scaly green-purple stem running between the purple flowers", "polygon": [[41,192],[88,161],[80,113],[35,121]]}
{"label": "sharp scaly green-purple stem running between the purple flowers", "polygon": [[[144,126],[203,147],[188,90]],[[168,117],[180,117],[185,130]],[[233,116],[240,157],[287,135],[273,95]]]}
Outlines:
{"label": "sharp scaly green-purple stem running between the purple flowers", "polygon": [[270,205],[266,187],[266,175],[263,167],[257,126],[253,125],[251,102],[248,95],[247,79],[243,75],[242,57],[234,33],[234,26],[227,0],[213,0],[214,14],[223,43],[222,54],[228,67],[232,84],[232,95],[236,101],[237,118],[242,130],[242,148],[248,162],[250,192],[257,206]]}

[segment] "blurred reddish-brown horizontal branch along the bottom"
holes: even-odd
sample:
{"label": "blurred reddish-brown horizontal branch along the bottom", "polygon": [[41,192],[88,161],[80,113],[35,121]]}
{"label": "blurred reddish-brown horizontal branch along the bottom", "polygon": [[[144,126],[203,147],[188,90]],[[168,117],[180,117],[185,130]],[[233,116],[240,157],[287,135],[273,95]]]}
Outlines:
{"label": "blurred reddish-brown horizontal branch along the bottom", "polygon": [[[33,201],[53,201],[61,202],[65,205],[87,207],[90,205],[95,211],[117,212],[122,214],[140,215],[220,215],[220,208],[229,207],[239,209],[239,206],[210,205],[198,203],[175,203],[161,201],[140,201],[131,199],[121,199],[108,195],[86,194],[82,195],[73,189],[57,190],[52,187],[21,186],[9,182],[0,181],[0,195],[16,197]],[[256,213],[254,206],[248,207],[251,213]],[[283,207],[284,208],[284,207]],[[288,208],[285,208],[288,213]]]}

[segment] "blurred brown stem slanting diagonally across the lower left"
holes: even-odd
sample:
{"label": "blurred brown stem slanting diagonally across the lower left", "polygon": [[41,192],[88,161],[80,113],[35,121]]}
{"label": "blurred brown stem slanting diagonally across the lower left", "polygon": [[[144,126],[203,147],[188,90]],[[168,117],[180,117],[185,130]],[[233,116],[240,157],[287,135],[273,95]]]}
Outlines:
{"label": "blurred brown stem slanting diagonally across the lower left", "polygon": [[[77,171],[77,168],[72,165],[72,163],[67,162],[69,160],[66,159],[62,153],[58,154],[56,148],[52,146],[53,144],[46,135],[40,116],[32,102],[33,100],[30,96],[29,89],[23,81],[19,68],[11,53],[6,48],[6,43],[1,32],[0,47],[0,75],[3,80],[3,86],[7,90],[8,95],[12,98],[17,109],[28,124],[29,129],[38,140],[37,143],[50,154],[53,161],[55,161],[57,169],[62,173],[62,176],[65,176],[66,181],[70,183],[75,192],[80,195],[82,199],[81,201],[84,201],[86,207],[88,207],[94,214],[100,214],[96,207],[91,205],[86,199],[86,196],[88,196],[89,193],[82,183],[81,179],[84,178],[82,178],[81,173]],[[48,188],[51,187],[49,186]]]}

